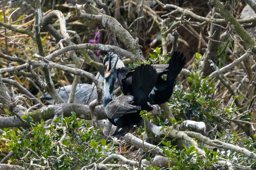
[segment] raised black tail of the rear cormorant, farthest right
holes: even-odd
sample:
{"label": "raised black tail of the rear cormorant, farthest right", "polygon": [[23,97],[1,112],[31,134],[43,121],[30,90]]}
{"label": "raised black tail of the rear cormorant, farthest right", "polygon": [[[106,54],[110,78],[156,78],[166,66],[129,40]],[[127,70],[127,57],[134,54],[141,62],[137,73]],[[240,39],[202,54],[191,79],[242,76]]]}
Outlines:
{"label": "raised black tail of the rear cormorant, farthest right", "polygon": [[167,82],[174,83],[175,79],[185,66],[186,57],[183,58],[183,53],[175,51],[169,63],[169,70],[167,72]]}

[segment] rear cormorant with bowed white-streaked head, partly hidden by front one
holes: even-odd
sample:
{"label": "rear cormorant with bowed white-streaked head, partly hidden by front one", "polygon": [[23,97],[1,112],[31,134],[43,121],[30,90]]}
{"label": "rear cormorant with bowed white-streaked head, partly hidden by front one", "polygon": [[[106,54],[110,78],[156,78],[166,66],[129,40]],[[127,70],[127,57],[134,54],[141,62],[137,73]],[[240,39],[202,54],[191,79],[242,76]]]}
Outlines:
{"label": "rear cormorant with bowed white-streaked head, partly hidden by front one", "polygon": [[[111,58],[113,66],[117,58],[119,58],[116,64],[117,78],[121,87],[121,91],[124,95],[133,95],[132,91],[132,75],[134,70],[129,71],[125,67],[122,58],[115,51],[109,51],[103,60],[104,68],[109,65],[109,58]],[[150,104],[162,104],[169,101],[173,88],[175,86],[174,82],[178,74],[185,65],[186,57],[183,58],[183,53],[175,51],[169,64],[153,64],[151,65],[156,69],[158,77],[155,87],[147,97],[147,101]],[[162,75],[167,74],[166,80],[162,78]]]}

